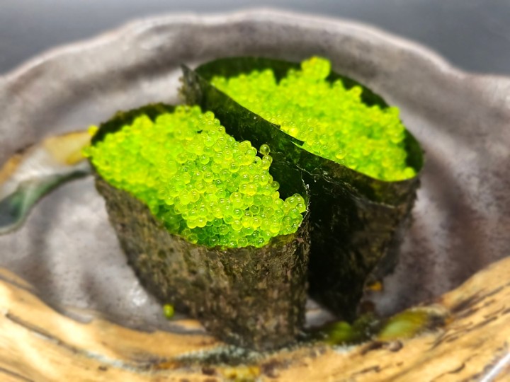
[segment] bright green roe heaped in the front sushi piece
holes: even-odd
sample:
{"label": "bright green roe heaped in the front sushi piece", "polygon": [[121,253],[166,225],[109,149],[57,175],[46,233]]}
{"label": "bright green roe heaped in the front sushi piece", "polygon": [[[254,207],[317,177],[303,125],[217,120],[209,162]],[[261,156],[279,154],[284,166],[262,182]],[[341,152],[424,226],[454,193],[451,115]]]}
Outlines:
{"label": "bright green roe heaped in the front sushi piece", "polygon": [[240,248],[294,233],[306,210],[301,195],[280,199],[269,151],[262,145],[258,156],[249,141],[236,141],[212,112],[178,106],[154,122],[137,117],[85,154],[108,183],[145,202],[171,233],[208,247]]}

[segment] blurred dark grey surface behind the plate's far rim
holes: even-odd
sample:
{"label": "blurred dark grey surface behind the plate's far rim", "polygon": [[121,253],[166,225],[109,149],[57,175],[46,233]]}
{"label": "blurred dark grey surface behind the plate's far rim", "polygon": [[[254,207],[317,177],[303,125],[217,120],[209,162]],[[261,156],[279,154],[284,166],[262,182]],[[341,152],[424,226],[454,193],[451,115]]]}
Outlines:
{"label": "blurred dark grey surface behind the plate's far rim", "polygon": [[510,0],[0,0],[0,75],[135,18],[262,6],[369,23],[467,71],[510,75]]}

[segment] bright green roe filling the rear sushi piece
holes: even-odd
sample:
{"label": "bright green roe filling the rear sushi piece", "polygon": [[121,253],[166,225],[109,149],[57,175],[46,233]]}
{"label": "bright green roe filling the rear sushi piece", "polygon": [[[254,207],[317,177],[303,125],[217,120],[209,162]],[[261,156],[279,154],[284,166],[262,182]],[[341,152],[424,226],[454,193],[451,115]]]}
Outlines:
{"label": "bright green roe filling the rear sushi piece", "polygon": [[397,108],[368,106],[362,88],[346,90],[341,80],[327,81],[331,64],[312,57],[301,70],[290,69],[279,82],[271,69],[212,85],[264,119],[304,141],[303,149],[373,178],[403,180],[416,175],[406,165],[405,128]]}

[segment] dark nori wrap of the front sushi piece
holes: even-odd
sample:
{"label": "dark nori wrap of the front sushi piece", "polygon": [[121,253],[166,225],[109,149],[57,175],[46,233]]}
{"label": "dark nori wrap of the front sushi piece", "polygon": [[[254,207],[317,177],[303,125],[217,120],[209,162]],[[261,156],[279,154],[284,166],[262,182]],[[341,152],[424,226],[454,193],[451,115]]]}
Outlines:
{"label": "dark nori wrap of the front sushi piece", "polygon": [[[120,123],[166,105],[119,113],[94,137],[114,132]],[[285,163],[271,173],[285,192],[307,190]],[[172,235],[149,208],[95,173],[96,188],[120,245],[142,284],[163,303],[198,318],[221,340],[253,349],[274,349],[293,342],[305,320],[308,216],[297,233],[273,238],[263,248],[206,248]]]}

